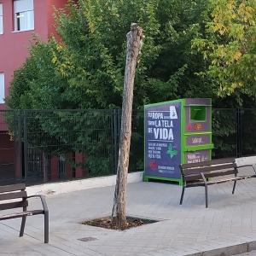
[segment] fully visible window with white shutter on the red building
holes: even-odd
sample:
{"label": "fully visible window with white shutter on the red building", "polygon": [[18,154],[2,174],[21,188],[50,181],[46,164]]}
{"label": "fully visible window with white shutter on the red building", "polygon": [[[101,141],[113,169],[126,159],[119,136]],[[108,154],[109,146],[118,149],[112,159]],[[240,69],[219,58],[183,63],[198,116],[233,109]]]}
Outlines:
{"label": "fully visible window with white shutter on the red building", "polygon": [[34,29],[34,4],[33,0],[15,0],[15,31]]}

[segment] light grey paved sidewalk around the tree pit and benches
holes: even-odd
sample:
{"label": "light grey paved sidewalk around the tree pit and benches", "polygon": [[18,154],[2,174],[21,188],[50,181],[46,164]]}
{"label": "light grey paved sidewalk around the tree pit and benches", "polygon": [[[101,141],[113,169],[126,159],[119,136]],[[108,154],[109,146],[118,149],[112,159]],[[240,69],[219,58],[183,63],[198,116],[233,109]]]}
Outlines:
{"label": "light grey paved sidewalk around the tree pit and benches", "polygon": [[[80,224],[108,216],[113,187],[87,189],[47,197],[50,213],[49,245],[44,244],[43,217],[27,218],[26,236],[19,238],[20,219],[0,223],[0,255],[189,255],[219,247],[256,241],[256,179],[204,189],[186,189],[169,183],[130,183],[127,213],[160,220],[131,230],[117,231]],[[32,200],[32,207],[39,206]],[[92,237],[95,241],[79,241]]]}

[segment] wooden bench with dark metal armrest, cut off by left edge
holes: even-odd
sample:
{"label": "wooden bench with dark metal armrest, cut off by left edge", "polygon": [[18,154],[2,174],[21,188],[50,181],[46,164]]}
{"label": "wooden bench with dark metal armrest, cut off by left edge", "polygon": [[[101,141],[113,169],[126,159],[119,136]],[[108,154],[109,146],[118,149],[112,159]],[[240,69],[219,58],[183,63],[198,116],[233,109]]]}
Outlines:
{"label": "wooden bench with dark metal armrest, cut off by left edge", "polygon": [[[28,199],[39,197],[41,199],[43,210],[27,211]],[[44,214],[44,243],[49,242],[49,211],[43,195],[26,195],[26,185],[23,183],[0,186],[0,211],[14,208],[23,208],[22,212],[13,212],[0,215],[0,221],[10,218],[22,218],[20,226],[20,236],[24,234],[26,217],[38,214]]]}

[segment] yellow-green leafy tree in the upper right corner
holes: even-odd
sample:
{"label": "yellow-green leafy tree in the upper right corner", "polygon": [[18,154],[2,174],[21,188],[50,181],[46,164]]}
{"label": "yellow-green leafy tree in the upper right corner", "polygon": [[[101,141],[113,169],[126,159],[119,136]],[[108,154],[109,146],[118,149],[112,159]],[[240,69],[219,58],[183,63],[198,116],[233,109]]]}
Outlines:
{"label": "yellow-green leafy tree in the upper right corner", "polygon": [[219,96],[255,95],[256,2],[212,0],[206,34],[193,40],[193,48],[207,60],[201,74],[218,84]]}

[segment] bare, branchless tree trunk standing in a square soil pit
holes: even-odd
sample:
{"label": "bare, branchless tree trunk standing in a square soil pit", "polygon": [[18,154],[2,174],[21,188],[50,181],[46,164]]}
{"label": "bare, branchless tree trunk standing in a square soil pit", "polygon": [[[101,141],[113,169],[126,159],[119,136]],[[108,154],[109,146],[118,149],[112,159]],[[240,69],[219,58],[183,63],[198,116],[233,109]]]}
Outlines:
{"label": "bare, branchless tree trunk standing in a square soil pit", "polygon": [[131,32],[127,33],[127,55],[120,131],[121,134],[119,144],[119,162],[112,212],[112,217],[114,214],[116,214],[117,225],[120,229],[125,228],[126,225],[126,184],[131,144],[131,113],[133,101],[133,86],[137,58],[140,54],[142,43],[143,29],[138,26],[137,23],[132,23]]}

